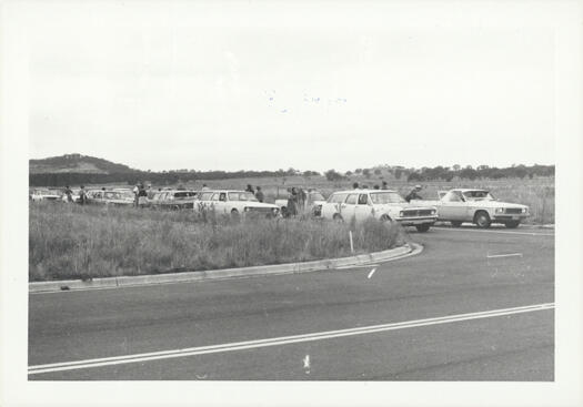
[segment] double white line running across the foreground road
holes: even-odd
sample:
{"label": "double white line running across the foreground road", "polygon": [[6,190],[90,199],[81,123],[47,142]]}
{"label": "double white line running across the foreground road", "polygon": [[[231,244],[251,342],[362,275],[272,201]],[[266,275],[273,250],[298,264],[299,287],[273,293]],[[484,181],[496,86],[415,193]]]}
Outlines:
{"label": "double white line running across the foreground road", "polygon": [[363,326],[363,327],[349,328],[349,329],[326,330],[326,332],[303,334],[303,335],[282,336],[282,337],[268,338],[268,339],[255,339],[255,340],[245,340],[245,342],[237,342],[237,343],[220,344],[220,345],[199,346],[199,347],[191,347],[191,348],[184,348],[184,349],[151,352],[151,353],[144,353],[144,354],[103,357],[103,358],[96,358],[96,359],[53,363],[53,364],[46,364],[46,365],[29,366],[28,374],[37,375],[37,374],[51,373],[51,372],[87,369],[87,368],[92,368],[92,367],[103,367],[103,366],[113,366],[113,365],[122,365],[122,364],[131,364],[131,363],[140,363],[140,362],[170,359],[170,358],[188,357],[188,356],[195,356],[195,355],[208,355],[208,354],[214,354],[214,353],[253,349],[253,348],[261,348],[261,347],[268,347],[268,346],[281,346],[281,345],[296,344],[296,343],[303,343],[303,342],[324,340],[324,339],[331,339],[331,338],[338,338],[338,337],[344,337],[344,336],[355,336],[355,335],[375,334],[375,333],[386,332],[386,330],[414,328],[414,327],[420,327],[420,326],[450,324],[450,323],[480,319],[480,318],[492,318],[496,316],[531,313],[535,311],[553,309],[553,308],[554,308],[554,303],[534,304],[534,305],[513,307],[513,308],[492,309],[492,311],[485,311],[485,312],[479,312],[479,313],[448,315],[448,316],[434,317],[434,318],[414,319],[414,320],[406,320],[406,322],[401,322],[401,323],[390,323],[390,324],[382,324],[382,325],[371,325],[371,326]]}

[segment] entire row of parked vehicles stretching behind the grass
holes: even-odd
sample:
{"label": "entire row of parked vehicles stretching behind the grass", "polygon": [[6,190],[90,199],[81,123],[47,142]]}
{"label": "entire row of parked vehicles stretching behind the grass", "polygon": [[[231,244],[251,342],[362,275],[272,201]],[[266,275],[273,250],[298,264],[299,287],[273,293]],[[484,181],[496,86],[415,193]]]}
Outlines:
{"label": "entire row of parked vehicles stretching behind the grass", "polygon": [[[88,204],[135,204],[135,195],[128,189],[87,190],[86,194]],[[73,201],[79,201],[79,190],[73,191]],[[67,202],[68,197],[48,189],[36,189],[31,191],[30,200]],[[192,210],[201,215],[212,211],[231,216],[277,217],[287,215],[288,200],[264,203],[259,202],[251,192],[238,190],[164,190],[151,192],[143,206],[154,210]],[[309,190],[302,208],[315,218],[362,222],[372,217],[414,226],[419,232],[429,231],[438,221],[450,222],[453,226],[470,222],[479,227],[502,223],[513,228],[530,216],[526,205],[501,202],[489,191],[479,189],[440,191],[439,200],[411,202],[393,190],[336,191],[328,199],[316,190]]]}

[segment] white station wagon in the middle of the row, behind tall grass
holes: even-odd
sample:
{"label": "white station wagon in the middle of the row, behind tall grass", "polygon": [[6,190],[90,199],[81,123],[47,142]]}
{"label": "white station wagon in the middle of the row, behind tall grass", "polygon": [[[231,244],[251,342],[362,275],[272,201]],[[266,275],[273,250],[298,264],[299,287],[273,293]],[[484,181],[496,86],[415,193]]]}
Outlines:
{"label": "white station wagon in the middle of the row, behind tall grass", "polygon": [[247,191],[203,191],[200,194],[200,205],[195,211],[214,211],[224,215],[265,215],[279,216],[280,208],[274,204],[259,202]]}

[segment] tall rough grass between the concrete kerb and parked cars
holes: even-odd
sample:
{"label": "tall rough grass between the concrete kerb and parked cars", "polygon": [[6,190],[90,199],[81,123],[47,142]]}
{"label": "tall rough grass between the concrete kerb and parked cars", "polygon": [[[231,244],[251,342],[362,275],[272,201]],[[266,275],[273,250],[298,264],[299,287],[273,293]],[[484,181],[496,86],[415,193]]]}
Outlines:
{"label": "tall rough grass between the concrete kerb and parked cars", "polygon": [[29,210],[29,279],[49,281],[203,271],[301,262],[401,245],[400,226],[376,221],[242,220],[191,211],[39,202]]}

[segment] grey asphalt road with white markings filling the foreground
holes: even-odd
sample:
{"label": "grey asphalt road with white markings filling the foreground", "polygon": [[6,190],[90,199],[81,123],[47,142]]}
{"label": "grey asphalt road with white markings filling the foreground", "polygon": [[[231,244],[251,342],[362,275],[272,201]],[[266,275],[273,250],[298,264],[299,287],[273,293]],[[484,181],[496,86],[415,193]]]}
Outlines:
{"label": "grey asphalt road with white markings filling the foreground", "polygon": [[553,232],[410,236],[378,266],[31,294],[29,379],[553,380]]}

